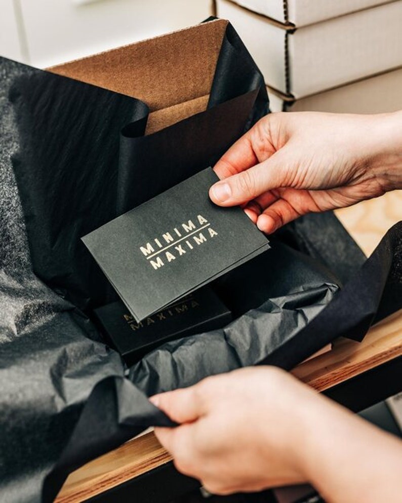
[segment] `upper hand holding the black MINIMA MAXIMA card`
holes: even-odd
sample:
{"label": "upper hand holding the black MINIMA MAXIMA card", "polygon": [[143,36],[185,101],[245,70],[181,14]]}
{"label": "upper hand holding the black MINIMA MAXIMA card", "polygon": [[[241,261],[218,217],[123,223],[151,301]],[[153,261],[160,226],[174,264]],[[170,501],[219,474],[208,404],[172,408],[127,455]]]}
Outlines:
{"label": "upper hand holding the black MINIMA MAXIMA card", "polygon": [[402,112],[271,113],[214,170],[222,181],[211,187],[211,200],[242,205],[272,233],[300,215],[401,188]]}

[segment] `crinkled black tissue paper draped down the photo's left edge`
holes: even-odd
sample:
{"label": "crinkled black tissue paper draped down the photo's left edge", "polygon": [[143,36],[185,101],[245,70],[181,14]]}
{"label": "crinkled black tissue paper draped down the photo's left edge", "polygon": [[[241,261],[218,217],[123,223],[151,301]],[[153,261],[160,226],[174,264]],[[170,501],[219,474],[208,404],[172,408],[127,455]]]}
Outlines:
{"label": "crinkled black tissue paper draped down the photo's left edge", "polygon": [[32,273],[11,154],[8,94],[36,70],[0,58],[0,501],[39,501],[94,385],[123,375],[88,318]]}

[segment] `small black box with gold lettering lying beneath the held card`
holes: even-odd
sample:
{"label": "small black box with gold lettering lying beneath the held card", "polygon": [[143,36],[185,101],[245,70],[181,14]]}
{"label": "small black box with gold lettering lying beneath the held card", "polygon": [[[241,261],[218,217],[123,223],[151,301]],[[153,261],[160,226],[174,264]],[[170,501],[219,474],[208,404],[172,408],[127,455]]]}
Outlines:
{"label": "small black box with gold lettering lying beneath the held card", "polygon": [[94,315],[104,336],[128,365],[165,342],[224,327],[232,318],[229,309],[208,287],[141,322],[119,300],[98,307]]}

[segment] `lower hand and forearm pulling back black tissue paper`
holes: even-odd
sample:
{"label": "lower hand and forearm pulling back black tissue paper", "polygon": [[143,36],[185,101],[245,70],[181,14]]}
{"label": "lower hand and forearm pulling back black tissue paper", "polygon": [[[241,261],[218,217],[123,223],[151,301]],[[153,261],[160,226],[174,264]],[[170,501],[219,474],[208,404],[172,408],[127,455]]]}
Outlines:
{"label": "lower hand and forearm pulling back black tissue paper", "polygon": [[208,377],[150,400],[176,468],[212,493],[310,482],[328,503],[400,503],[402,442],[275,367]]}

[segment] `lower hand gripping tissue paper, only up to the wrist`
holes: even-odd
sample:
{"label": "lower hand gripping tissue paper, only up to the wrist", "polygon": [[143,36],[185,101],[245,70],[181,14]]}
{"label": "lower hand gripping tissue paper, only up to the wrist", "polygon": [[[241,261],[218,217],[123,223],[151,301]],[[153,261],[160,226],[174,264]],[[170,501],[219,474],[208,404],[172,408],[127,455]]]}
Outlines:
{"label": "lower hand gripping tissue paper, only up to the wrist", "polygon": [[155,428],[178,470],[219,494],[304,481],[297,438],[315,400],[312,390],[274,367],[236,370],[151,398],[183,423]]}

